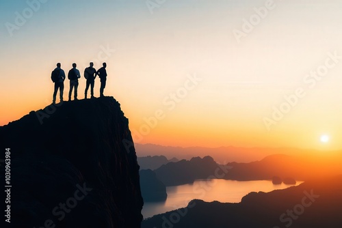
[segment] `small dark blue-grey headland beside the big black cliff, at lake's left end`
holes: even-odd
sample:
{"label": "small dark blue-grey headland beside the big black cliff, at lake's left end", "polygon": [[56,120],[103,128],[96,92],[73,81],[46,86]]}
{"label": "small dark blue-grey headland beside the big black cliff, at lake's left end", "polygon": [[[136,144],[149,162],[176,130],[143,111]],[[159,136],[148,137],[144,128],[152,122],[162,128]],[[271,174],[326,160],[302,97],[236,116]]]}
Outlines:
{"label": "small dark blue-grey headland beside the big black cliff, at lake's left end", "polygon": [[140,187],[145,202],[166,201],[166,186],[150,169],[140,170]]}

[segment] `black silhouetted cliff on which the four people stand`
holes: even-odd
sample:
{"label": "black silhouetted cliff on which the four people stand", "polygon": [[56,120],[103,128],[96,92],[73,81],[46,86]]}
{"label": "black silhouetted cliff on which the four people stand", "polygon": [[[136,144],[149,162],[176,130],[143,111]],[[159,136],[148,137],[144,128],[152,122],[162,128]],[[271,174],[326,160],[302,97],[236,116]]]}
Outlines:
{"label": "black silhouetted cliff on which the four people stand", "polygon": [[140,227],[139,165],[114,98],[32,111],[0,138],[11,149],[11,227]]}

